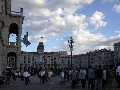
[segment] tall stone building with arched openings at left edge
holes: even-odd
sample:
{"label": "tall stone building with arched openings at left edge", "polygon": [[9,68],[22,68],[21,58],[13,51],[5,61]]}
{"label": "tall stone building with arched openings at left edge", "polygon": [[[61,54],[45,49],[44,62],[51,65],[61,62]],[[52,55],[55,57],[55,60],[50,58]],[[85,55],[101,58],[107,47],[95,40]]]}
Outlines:
{"label": "tall stone building with arched openings at left edge", "polygon": [[[0,73],[7,66],[20,68],[23,8],[11,11],[11,0],[0,0]],[[16,35],[16,42],[9,41]]]}

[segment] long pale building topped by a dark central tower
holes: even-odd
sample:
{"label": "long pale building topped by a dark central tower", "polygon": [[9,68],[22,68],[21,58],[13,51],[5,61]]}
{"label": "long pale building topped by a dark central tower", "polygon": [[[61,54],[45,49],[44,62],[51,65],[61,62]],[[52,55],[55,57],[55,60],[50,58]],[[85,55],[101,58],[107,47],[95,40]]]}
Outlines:
{"label": "long pale building topped by a dark central tower", "polygon": [[37,52],[21,52],[20,66],[22,68],[61,68],[61,57],[66,55],[67,51],[44,52],[43,42],[39,42]]}

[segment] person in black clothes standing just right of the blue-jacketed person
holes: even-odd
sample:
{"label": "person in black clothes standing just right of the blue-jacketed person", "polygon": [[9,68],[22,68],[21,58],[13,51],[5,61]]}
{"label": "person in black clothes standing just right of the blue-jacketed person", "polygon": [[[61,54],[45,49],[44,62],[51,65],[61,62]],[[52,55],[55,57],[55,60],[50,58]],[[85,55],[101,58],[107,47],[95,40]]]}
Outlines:
{"label": "person in black clothes standing just right of the blue-jacketed person", "polygon": [[102,76],[103,76],[103,69],[101,66],[99,66],[97,73],[96,73],[96,78],[97,78],[96,88],[97,89],[102,89]]}

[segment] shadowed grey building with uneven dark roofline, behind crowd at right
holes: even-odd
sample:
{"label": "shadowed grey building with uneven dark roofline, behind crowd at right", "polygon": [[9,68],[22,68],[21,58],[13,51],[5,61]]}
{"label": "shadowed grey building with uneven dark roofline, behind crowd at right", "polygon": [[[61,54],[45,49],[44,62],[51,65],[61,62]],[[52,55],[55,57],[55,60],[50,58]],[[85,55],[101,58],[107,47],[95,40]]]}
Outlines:
{"label": "shadowed grey building with uneven dark roofline, behind crowd at right", "polygon": [[93,52],[89,52],[90,60],[89,63],[91,66],[108,66],[114,63],[114,52],[107,49],[95,50]]}

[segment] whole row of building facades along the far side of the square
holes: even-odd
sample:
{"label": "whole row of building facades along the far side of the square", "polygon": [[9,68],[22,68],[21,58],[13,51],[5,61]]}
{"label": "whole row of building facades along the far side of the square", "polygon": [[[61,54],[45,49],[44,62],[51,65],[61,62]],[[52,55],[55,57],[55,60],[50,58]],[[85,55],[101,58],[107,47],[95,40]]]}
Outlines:
{"label": "whole row of building facades along the far side of the square", "polygon": [[[67,55],[67,51],[44,52],[42,42],[38,47],[37,52],[22,52],[22,68],[71,68],[71,55]],[[114,51],[107,49],[72,56],[72,68],[109,66],[111,64],[114,64]]]}

